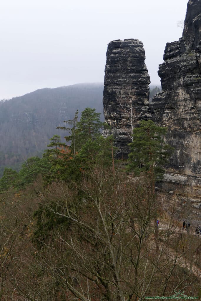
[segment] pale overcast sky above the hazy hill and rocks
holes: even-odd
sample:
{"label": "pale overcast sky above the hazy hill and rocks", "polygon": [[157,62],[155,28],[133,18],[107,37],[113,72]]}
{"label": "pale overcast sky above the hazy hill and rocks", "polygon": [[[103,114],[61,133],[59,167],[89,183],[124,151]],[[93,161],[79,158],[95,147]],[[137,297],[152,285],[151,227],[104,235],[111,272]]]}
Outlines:
{"label": "pale overcast sky above the hazy hill and rocks", "polygon": [[107,44],[143,42],[151,84],[187,0],[0,0],[0,99],[104,82]]}

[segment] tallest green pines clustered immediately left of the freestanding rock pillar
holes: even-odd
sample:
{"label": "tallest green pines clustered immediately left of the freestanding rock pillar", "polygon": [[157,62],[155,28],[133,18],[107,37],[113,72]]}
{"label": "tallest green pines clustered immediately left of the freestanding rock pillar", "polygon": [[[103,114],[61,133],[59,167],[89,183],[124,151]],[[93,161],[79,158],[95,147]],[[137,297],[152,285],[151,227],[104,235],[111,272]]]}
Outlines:
{"label": "tallest green pines clustered immediately left of the freestanding rock pillar", "polygon": [[[78,110],[74,119],[65,121],[72,125],[72,128],[58,127],[71,133],[66,137],[66,141],[71,141],[69,152],[62,157],[61,154],[59,158],[57,156],[56,164],[51,169],[55,177],[60,180],[79,181],[83,170],[91,168],[97,162],[102,161],[104,165],[111,164],[111,141],[113,142],[113,138],[102,137],[101,129],[108,125],[100,121],[100,113],[96,113],[95,109],[86,108],[81,113],[79,122],[77,116]],[[65,147],[67,148],[67,145]]]}

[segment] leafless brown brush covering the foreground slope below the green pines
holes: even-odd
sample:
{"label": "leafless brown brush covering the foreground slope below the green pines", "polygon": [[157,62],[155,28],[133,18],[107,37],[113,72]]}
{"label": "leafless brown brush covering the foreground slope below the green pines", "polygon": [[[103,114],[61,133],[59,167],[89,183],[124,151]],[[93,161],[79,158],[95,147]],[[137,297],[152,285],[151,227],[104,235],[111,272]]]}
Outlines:
{"label": "leafless brown brush covering the foreground slope below the green pines", "polygon": [[[23,222],[12,223],[13,243],[8,240],[8,251],[2,250],[2,255],[12,254],[3,267],[9,266],[2,300],[129,301],[178,289],[196,296],[199,241],[175,231],[171,218],[156,235],[154,218],[163,210],[149,175],[129,179],[98,167],[83,174],[80,185],[53,183],[36,194],[29,191],[29,214],[24,195],[16,197],[18,208],[10,208]],[[29,235],[36,226],[30,213],[37,202],[49,206],[55,219],[70,223],[50,231],[41,247]]]}

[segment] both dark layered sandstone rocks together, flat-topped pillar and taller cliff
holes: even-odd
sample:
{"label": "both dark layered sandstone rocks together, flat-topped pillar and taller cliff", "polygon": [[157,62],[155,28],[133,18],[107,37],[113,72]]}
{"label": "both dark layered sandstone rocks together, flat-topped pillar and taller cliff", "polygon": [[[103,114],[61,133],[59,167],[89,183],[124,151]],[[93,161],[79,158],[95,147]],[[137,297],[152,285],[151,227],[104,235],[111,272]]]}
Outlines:
{"label": "both dark layered sandstone rocks together, flat-topped pillar and taller cliff", "polygon": [[[189,0],[182,38],[167,43],[164,63],[159,65],[162,92],[149,105],[149,75],[143,44],[136,39],[108,44],[103,105],[115,144],[129,152],[132,99],[133,126],[151,118],[167,126],[167,143],[174,147],[163,187],[177,191],[181,205],[201,208],[201,0]],[[119,154],[119,155],[121,155]],[[180,190],[179,187],[182,187]],[[182,203],[183,202],[183,203]],[[183,206],[183,205],[182,205]]]}

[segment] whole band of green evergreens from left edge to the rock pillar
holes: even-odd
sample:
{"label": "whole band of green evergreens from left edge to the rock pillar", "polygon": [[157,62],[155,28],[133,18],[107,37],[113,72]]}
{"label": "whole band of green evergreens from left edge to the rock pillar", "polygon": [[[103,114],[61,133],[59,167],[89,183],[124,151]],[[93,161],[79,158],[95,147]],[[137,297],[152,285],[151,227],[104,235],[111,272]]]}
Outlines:
{"label": "whole band of green evergreens from left edge to the rock pillar", "polygon": [[[71,128],[59,127],[71,133],[66,137],[67,141],[71,141],[70,146],[62,143],[60,136],[54,135],[43,157],[24,159],[19,175],[13,171],[15,178],[10,177],[8,185],[5,184],[8,173],[5,170],[2,187],[5,190],[10,186],[20,189],[33,183],[39,175],[42,176],[44,185],[55,181],[79,182],[82,172],[97,162],[102,162],[105,166],[111,165],[112,137],[107,139],[102,137],[101,129],[107,125],[100,121],[100,113],[96,113],[95,109],[86,108],[79,122],[77,117],[78,110],[74,119],[66,121]],[[7,179],[6,181],[8,182]]]}

